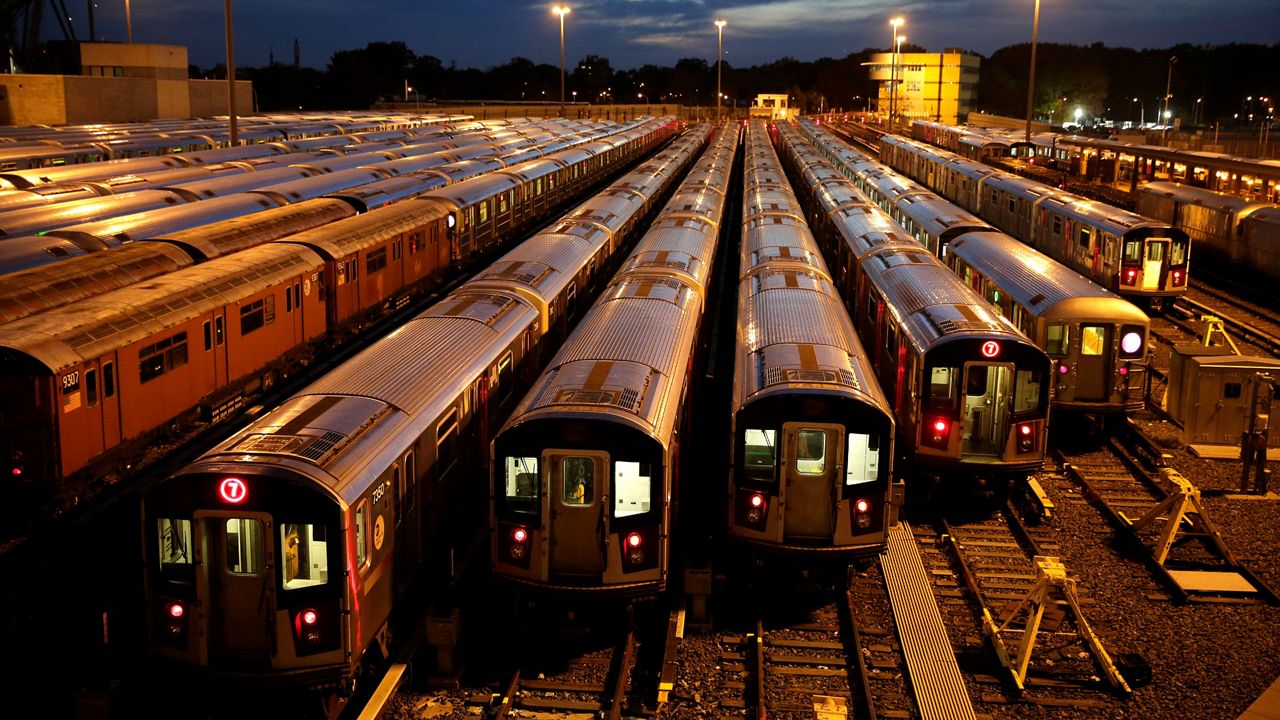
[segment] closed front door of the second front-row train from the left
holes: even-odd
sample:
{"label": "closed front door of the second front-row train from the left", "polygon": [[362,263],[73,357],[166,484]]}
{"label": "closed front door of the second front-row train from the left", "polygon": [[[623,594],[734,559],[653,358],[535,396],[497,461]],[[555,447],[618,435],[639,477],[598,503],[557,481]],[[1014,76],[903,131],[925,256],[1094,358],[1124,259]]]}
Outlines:
{"label": "closed front door of the second front-row train from the left", "polygon": [[550,488],[550,548],[548,574],[604,573],[604,479],[608,455],[586,451],[543,454]]}

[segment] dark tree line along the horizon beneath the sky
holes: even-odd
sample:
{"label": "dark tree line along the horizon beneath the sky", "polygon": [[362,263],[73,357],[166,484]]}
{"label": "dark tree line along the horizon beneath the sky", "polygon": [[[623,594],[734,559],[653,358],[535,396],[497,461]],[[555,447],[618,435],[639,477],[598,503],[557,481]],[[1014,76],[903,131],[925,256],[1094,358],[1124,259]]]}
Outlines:
{"label": "dark tree line along the horizon beneath the sky", "polygon": [[[726,102],[744,106],[760,92],[786,92],[805,111],[874,108],[876,83],[864,67],[876,53],[868,47],[844,58],[803,61],[782,58],[753,67],[724,63]],[[904,53],[923,53],[905,45]],[[1027,104],[1029,44],[1011,45],[982,58],[974,109],[1023,117]],[[1170,61],[1171,58],[1176,60]],[[1172,64],[1172,76],[1169,67]],[[1152,122],[1165,96],[1184,123],[1254,122],[1266,113],[1260,97],[1274,99],[1280,67],[1280,42],[1274,45],[1176,45],[1134,50],[1093,45],[1037,46],[1036,115],[1062,122],[1080,108],[1088,117]],[[673,65],[614,69],[607,58],[586,55],[566,68],[566,100],[577,102],[676,102],[712,105],[716,65],[703,58],[684,58]],[[193,77],[225,77],[225,69],[192,68]],[[444,64],[416,55],[403,42],[371,42],[334,53],[324,70],[273,63],[238,68],[239,79],[253,81],[262,111],[294,109],[362,109],[380,100],[435,101],[559,100],[559,67],[527,58],[486,69]],[[1137,100],[1134,100],[1137,97]],[[1252,100],[1247,100],[1252,97]]]}

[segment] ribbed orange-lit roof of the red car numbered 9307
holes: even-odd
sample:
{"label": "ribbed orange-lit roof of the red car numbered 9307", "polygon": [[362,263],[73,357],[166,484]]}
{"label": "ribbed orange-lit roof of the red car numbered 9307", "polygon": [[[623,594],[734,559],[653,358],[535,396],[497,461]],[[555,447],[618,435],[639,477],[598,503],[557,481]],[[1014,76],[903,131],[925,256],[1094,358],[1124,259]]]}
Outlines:
{"label": "ribbed orange-lit roof of the red car numbered 9307", "polygon": [[58,373],[323,266],[302,247],[252,247],[3,325],[0,346]]}

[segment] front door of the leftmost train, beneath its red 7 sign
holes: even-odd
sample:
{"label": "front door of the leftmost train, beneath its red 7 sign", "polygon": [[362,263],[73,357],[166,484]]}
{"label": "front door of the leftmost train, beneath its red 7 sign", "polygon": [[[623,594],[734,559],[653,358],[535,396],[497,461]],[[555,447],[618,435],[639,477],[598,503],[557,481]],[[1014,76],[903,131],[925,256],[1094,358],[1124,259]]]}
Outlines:
{"label": "front door of the leftmost train, beneath its red 7 sign", "polygon": [[196,523],[205,544],[210,666],[270,666],[275,637],[271,516],[196,512]]}

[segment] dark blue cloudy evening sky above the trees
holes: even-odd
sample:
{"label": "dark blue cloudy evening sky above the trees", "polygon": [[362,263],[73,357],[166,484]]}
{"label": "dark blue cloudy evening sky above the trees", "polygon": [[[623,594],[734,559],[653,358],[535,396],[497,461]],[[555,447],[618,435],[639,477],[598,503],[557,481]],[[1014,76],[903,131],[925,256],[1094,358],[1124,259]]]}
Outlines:
{"label": "dark blue cloudy evening sky above the trees", "polygon": [[[460,67],[492,67],[520,55],[559,61],[553,3],[529,0],[233,0],[237,65],[291,63],[293,40],[302,64],[324,68],[335,50],[372,41],[404,41],[420,55]],[[929,50],[964,47],[989,55],[1030,40],[1034,0],[568,0],[566,45],[572,64],[607,56],[614,69],[680,58],[714,60],[723,17],[726,60],[736,65],[790,55],[842,56],[890,44],[888,18],[906,18],[908,41]],[[100,40],[123,41],[124,0],[97,0]],[[88,35],[84,6],[69,3],[79,37]],[[191,63],[225,59],[223,3],[132,0],[136,42],[189,47]],[[1103,42],[1167,47],[1179,42],[1274,44],[1280,40],[1275,0],[1042,0],[1042,42]]]}

